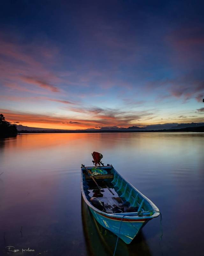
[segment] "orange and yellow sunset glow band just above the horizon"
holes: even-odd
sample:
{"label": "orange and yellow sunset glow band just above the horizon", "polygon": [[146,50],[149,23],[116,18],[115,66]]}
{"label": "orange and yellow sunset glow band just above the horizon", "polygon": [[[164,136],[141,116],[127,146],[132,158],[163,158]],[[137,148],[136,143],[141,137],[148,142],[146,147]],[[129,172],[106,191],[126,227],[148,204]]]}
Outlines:
{"label": "orange and yellow sunset glow band just above the horizon", "polygon": [[125,120],[122,117],[108,116],[108,115],[98,115],[94,114],[89,116],[89,119],[82,119],[83,117],[78,117],[74,119],[69,116],[49,116],[36,113],[24,113],[24,112],[12,112],[7,109],[0,109],[6,119],[6,121],[11,122],[11,124],[21,124],[28,127],[34,128],[45,128],[45,129],[60,129],[60,130],[85,130],[88,128],[99,129],[101,127],[123,127],[128,128],[132,126],[144,127],[146,125],[152,124],[166,124],[166,123],[191,123],[191,122],[203,122],[202,116],[195,116],[189,118],[184,116],[183,118],[178,118],[172,116],[171,120],[169,118],[154,117],[152,119],[146,119],[146,117],[141,117],[138,120]]}

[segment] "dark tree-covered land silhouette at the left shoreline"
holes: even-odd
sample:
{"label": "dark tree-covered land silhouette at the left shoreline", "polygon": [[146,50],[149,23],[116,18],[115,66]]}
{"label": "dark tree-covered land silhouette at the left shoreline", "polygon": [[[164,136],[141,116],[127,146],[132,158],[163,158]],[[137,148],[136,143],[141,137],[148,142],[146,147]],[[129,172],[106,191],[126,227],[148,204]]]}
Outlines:
{"label": "dark tree-covered land silhouette at the left shoreline", "polygon": [[17,134],[16,126],[7,122],[4,115],[0,114],[0,138],[16,137]]}

